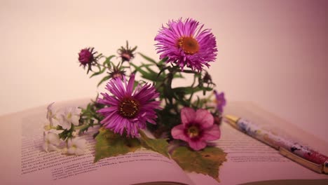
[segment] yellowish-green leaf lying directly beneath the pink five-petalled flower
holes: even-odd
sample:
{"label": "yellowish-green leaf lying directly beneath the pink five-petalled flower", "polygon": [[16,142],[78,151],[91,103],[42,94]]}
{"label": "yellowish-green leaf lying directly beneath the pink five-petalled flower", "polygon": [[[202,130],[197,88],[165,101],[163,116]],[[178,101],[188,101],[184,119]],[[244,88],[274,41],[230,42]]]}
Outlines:
{"label": "yellowish-green leaf lying directly beneath the pink five-petalled flower", "polygon": [[217,147],[208,146],[201,151],[192,151],[180,146],[172,152],[172,158],[186,172],[210,175],[219,181],[219,167],[226,161],[226,153]]}

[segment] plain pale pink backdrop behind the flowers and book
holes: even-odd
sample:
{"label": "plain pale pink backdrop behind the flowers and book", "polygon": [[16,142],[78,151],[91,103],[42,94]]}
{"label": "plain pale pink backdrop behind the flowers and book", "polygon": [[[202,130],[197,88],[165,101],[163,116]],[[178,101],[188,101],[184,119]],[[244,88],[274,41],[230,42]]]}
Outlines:
{"label": "plain pale pink backdrop behind the flowers and book", "polygon": [[324,0],[0,1],[0,115],[95,97],[103,87],[78,67],[81,48],[111,55],[128,40],[158,58],[154,36],[180,17],[217,36],[210,73],[228,102],[254,102],[327,141]]}

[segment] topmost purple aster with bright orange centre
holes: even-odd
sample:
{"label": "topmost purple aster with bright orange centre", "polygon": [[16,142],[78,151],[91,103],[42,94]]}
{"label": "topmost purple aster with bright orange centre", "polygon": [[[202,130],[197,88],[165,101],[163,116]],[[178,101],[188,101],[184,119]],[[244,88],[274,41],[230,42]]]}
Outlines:
{"label": "topmost purple aster with bright orange centre", "polygon": [[198,21],[186,19],[169,21],[168,27],[162,26],[155,37],[160,59],[168,57],[167,62],[184,66],[193,71],[201,71],[203,66],[210,67],[217,57],[217,42],[210,29],[203,29]]}

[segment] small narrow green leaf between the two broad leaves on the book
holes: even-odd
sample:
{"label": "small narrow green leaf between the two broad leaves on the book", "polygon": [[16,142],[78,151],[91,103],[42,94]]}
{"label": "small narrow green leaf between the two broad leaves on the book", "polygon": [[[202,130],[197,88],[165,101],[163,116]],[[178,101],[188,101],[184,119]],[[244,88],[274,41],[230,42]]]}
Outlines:
{"label": "small narrow green leaf between the two broad leaves on the book", "polygon": [[147,137],[141,130],[139,130],[139,134],[141,136],[139,138],[140,142],[144,148],[151,149],[152,151],[156,151],[160,154],[163,154],[163,156],[170,158],[168,153],[168,142],[166,139],[151,139]]}

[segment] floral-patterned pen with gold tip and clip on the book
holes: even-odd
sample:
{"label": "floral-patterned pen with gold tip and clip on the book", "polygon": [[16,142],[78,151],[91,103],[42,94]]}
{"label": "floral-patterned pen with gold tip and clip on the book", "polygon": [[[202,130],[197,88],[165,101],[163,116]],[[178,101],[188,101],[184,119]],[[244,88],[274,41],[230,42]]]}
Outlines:
{"label": "floral-patterned pen with gold tip and clip on the book", "polygon": [[245,118],[238,118],[236,116],[226,115],[224,121],[233,126],[233,128],[244,132],[255,139],[258,139],[274,149],[277,149],[282,156],[294,160],[310,170],[318,173],[328,174],[328,157],[302,146],[290,139],[280,137],[268,130],[262,129],[259,125],[247,121]]}

